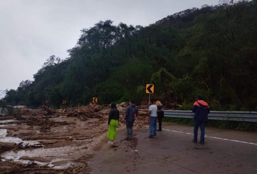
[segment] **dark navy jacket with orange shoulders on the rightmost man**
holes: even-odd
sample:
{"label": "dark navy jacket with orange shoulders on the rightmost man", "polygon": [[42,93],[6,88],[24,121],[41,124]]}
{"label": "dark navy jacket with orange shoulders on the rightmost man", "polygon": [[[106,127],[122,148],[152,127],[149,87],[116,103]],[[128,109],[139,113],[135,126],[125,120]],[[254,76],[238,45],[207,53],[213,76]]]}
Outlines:
{"label": "dark navy jacket with orange shoulders on the rightmost man", "polygon": [[193,105],[193,112],[195,113],[194,120],[199,122],[207,122],[208,114],[210,113],[210,107],[208,103],[203,100],[198,100]]}

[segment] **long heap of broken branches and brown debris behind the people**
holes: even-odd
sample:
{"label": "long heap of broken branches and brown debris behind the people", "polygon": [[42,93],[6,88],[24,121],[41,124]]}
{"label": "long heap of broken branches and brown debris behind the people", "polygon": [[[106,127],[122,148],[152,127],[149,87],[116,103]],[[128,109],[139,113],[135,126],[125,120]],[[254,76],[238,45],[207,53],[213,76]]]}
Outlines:
{"label": "long heap of broken branches and brown debris behind the people", "polygon": [[[128,103],[122,102],[117,104],[117,108],[120,111],[119,123],[125,125],[125,110]],[[99,112],[105,108],[105,112]],[[76,117],[80,121],[88,121],[89,119],[96,118],[99,122],[106,121],[108,117],[108,107],[101,106],[97,104],[89,104],[88,106],[76,107],[76,108],[65,108],[65,109],[53,109],[47,108],[45,105],[41,109],[19,109],[14,118],[17,120],[22,120],[26,125],[30,126],[40,126],[39,130],[41,132],[47,132],[50,127],[55,127],[57,125],[69,125],[66,121],[53,121],[51,118],[66,116],[66,117]],[[137,106],[139,112],[137,120],[135,121],[135,129],[139,129],[149,124],[148,118],[148,105]],[[29,117],[28,117],[29,116]],[[97,125],[97,123],[96,123]]]}

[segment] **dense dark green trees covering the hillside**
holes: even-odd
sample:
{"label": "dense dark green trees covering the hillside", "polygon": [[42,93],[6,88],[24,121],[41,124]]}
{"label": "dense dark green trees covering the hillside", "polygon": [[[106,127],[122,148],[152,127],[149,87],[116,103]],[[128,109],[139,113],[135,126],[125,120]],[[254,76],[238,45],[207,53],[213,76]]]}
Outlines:
{"label": "dense dark green trees covering the hillside", "polygon": [[257,110],[257,1],[204,5],[147,27],[100,21],[81,30],[65,60],[52,55],[2,102],[60,107],[155,98],[189,109],[201,94],[212,110]]}

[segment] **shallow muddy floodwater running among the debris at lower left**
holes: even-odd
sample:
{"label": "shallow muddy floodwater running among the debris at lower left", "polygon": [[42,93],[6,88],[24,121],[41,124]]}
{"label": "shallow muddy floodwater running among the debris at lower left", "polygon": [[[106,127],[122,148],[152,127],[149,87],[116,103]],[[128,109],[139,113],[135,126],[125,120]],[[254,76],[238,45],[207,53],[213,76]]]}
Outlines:
{"label": "shallow muddy floodwater running among the debris at lower left", "polygon": [[[5,124],[0,125],[0,141],[13,142],[16,144],[18,144],[19,142],[24,142],[24,144],[38,144],[42,141],[49,141],[42,139],[37,139],[37,141],[23,141],[18,137],[7,137],[7,129],[4,129],[4,126],[16,125],[13,124],[12,121],[15,120],[12,119],[0,121],[0,124]],[[56,141],[58,141],[58,139],[56,139]],[[29,148],[18,151],[4,152],[1,155],[0,161],[12,160],[14,162],[21,162],[24,164],[28,164],[29,162],[33,161],[38,165],[47,165],[49,167],[53,167],[56,169],[67,168],[72,165],[78,165],[78,163],[84,163],[87,167],[86,170],[91,171],[90,167],[87,165],[87,162],[89,159],[92,158],[92,156],[90,156],[88,153],[92,153],[92,150],[98,150],[106,142],[106,133],[103,133],[101,136],[87,141],[73,141],[83,142],[84,144],[80,146],[63,146],[56,148]]]}

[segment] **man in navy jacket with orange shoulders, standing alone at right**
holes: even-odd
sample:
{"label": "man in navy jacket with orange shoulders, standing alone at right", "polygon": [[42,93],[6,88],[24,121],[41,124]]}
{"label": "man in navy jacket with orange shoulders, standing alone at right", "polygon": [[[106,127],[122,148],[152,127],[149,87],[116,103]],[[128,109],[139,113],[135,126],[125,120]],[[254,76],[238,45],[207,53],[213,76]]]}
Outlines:
{"label": "man in navy jacket with orange shoulders, standing alone at right", "polygon": [[204,144],[205,125],[208,121],[208,114],[210,113],[210,107],[208,103],[203,101],[202,96],[198,96],[198,101],[193,105],[194,117],[194,139],[193,142],[197,142],[198,128],[201,129],[200,144]]}

